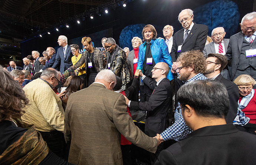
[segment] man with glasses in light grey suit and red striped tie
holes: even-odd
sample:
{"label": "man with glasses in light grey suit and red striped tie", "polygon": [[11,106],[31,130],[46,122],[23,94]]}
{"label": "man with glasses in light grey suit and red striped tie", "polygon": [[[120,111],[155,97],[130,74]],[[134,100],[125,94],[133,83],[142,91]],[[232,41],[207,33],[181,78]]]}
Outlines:
{"label": "man with glasses in light grey suit and red striped tie", "polygon": [[[203,53],[207,57],[210,53],[226,54],[229,39],[223,39],[225,37],[225,30],[223,27],[216,27],[211,31],[211,38],[213,41],[204,47]],[[231,69],[231,68],[230,68]],[[230,80],[228,65],[220,73],[224,78]]]}

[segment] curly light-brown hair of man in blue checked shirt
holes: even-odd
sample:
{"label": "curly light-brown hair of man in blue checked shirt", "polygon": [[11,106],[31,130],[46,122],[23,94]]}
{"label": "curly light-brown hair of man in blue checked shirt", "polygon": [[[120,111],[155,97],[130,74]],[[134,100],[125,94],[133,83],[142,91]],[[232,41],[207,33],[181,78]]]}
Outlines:
{"label": "curly light-brown hair of man in blue checked shirt", "polygon": [[204,73],[206,71],[206,58],[199,50],[186,51],[177,58],[183,67],[191,67],[195,74]]}

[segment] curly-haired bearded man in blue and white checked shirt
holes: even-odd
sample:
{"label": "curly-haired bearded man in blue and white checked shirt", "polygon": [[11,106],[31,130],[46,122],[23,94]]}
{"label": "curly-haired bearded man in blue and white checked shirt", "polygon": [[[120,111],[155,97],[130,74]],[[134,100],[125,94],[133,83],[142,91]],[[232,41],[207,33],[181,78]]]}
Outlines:
{"label": "curly-haired bearded man in blue and white checked shirt", "polygon": [[[178,68],[176,73],[179,75],[179,79],[185,84],[194,80],[207,79],[202,74],[206,71],[206,58],[202,52],[191,50],[181,53],[177,59],[177,64]],[[179,102],[175,110],[174,119],[174,124],[160,134],[162,142],[170,139],[180,141],[192,132],[181,115],[181,106]]]}

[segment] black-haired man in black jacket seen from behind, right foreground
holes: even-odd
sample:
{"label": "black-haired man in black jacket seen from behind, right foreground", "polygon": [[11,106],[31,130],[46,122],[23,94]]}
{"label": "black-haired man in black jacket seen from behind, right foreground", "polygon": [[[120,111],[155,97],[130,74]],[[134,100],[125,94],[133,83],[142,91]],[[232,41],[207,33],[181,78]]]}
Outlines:
{"label": "black-haired man in black jacket seen from behind, right foreground", "polygon": [[216,81],[183,85],[178,91],[180,113],[194,132],[163,150],[155,165],[255,164],[256,136],[226,124],[228,97],[226,87]]}

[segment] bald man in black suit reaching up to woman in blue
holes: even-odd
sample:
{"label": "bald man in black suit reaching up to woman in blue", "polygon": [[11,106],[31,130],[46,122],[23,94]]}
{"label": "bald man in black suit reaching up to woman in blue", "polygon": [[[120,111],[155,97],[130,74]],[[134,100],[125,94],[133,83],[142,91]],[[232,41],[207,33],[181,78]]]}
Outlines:
{"label": "bald man in black suit reaching up to woman in blue", "polygon": [[[154,90],[150,99],[145,102],[129,101],[127,98],[126,103],[128,107],[133,109],[147,111],[145,122],[145,134],[154,137],[160,134],[170,126],[168,118],[168,109],[172,109],[172,89],[170,81],[166,78],[169,73],[169,66],[166,63],[160,62],[155,64],[152,69],[152,78],[157,82],[155,83],[150,78],[146,77],[140,71],[142,81]],[[163,150],[163,144],[157,148],[155,155],[151,155],[151,162],[155,161],[155,156],[158,156],[160,151]]]}

